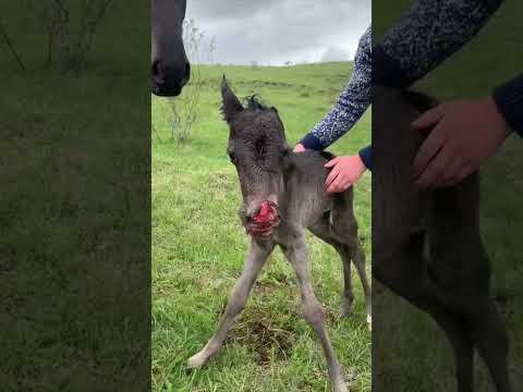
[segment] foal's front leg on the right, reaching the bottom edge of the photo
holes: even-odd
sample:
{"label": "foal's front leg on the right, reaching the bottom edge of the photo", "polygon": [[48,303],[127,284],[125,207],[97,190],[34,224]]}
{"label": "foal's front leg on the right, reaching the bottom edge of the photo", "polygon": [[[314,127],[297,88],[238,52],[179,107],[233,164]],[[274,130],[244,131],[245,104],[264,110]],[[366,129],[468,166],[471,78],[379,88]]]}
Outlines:
{"label": "foal's front leg on the right, reaching the bottom edge of the photo", "polygon": [[327,358],[327,367],[329,369],[329,378],[332,382],[335,392],[346,392],[345,382],[343,380],[343,368],[336,357],[330,339],[325,327],[325,314],[321,305],[314,294],[313,285],[308,277],[308,257],[305,240],[300,236],[288,246],[282,246],[285,258],[291,262],[296,271],[297,284],[302,295],[303,316],[305,321],[313,327],[319,338]]}

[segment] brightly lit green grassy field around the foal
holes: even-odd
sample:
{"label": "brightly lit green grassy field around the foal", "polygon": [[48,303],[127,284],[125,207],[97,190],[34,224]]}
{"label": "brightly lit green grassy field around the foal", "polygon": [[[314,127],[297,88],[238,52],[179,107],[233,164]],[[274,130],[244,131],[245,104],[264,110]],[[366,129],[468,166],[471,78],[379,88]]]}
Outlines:
{"label": "brightly lit green grassy field around the foal", "polygon": [[[226,155],[227,124],[219,113],[221,75],[239,96],[259,94],[279,109],[290,144],[329,110],[346,85],[351,63],[291,68],[200,66],[200,115],[184,145],[169,140],[169,106],[153,99],[153,384],[154,391],[329,391],[325,359],[301,316],[292,269],[277,250],[224,350],[203,370],[185,360],[210,338],[239,277],[247,236],[236,218],[241,198]],[[188,87],[191,88],[191,87]],[[368,111],[335,154],[352,154],[370,139]],[[370,260],[370,176],[356,187],[360,238]],[[314,237],[308,241],[313,281],[328,314],[335,350],[351,391],[370,391],[370,332],[363,293],[341,317],[341,261]],[[369,267],[368,267],[369,268]],[[356,280],[356,275],[353,278]]]}

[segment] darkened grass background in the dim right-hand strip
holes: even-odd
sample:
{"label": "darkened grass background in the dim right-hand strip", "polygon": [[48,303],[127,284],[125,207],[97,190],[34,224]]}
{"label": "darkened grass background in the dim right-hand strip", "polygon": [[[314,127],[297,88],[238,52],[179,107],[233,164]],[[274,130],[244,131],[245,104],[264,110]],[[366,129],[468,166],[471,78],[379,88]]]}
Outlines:
{"label": "darkened grass background in the dim right-hand strip", "polygon": [[[373,28],[380,35],[412,0],[373,3]],[[488,25],[457,56],[415,86],[446,99],[481,98],[521,72],[520,21],[523,4],[506,1]],[[500,59],[502,59],[500,61]],[[523,180],[521,138],[510,137],[482,172],[482,229],[492,265],[492,295],[509,329],[513,390],[523,390]],[[431,319],[375,284],[373,348],[376,380],[387,392],[454,391],[452,355]],[[379,327],[378,327],[379,326]],[[394,339],[391,339],[394,336]],[[476,391],[492,391],[476,356]],[[381,389],[378,389],[381,391]]]}

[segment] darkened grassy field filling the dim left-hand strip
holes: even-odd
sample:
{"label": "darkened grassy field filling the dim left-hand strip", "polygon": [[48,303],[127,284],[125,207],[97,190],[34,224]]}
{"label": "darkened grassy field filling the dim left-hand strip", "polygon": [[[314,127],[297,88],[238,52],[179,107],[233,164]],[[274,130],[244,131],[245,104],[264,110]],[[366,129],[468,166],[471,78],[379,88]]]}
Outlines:
{"label": "darkened grassy field filling the dim left-hand strip", "polygon": [[61,77],[29,3],[2,4],[27,72],[1,41],[0,390],[144,391],[149,5],[114,2],[85,72]]}

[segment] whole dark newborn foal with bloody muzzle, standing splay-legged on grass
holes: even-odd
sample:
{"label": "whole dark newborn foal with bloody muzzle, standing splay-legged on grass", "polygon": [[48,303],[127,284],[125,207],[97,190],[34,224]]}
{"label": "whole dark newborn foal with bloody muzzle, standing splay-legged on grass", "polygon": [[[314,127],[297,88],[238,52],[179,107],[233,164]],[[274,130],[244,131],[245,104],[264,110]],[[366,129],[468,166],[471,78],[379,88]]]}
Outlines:
{"label": "whole dark newborn foal with bloody muzzle, standing splay-legged on grass", "polygon": [[207,345],[188,359],[190,368],[199,368],[221,347],[234,318],[243,309],[256,277],[276,245],[294,267],[303,301],[303,315],[316,332],[336,392],[346,391],[343,370],[327,333],[324,309],[313,291],[305,245],[305,230],[332,245],[343,261],[344,303],[349,314],[353,302],[351,260],[354,261],[365,292],[367,321],[370,324],[370,287],[365,273],[365,256],[357,244],[357,224],[353,213],[352,188],[327,195],[327,152],[290,150],[275,108],[266,108],[254,98],[244,108],[223,78],[222,111],[230,127],[228,155],[240,177],[243,207],[240,218],[248,234],[251,249],[218,330]]}

